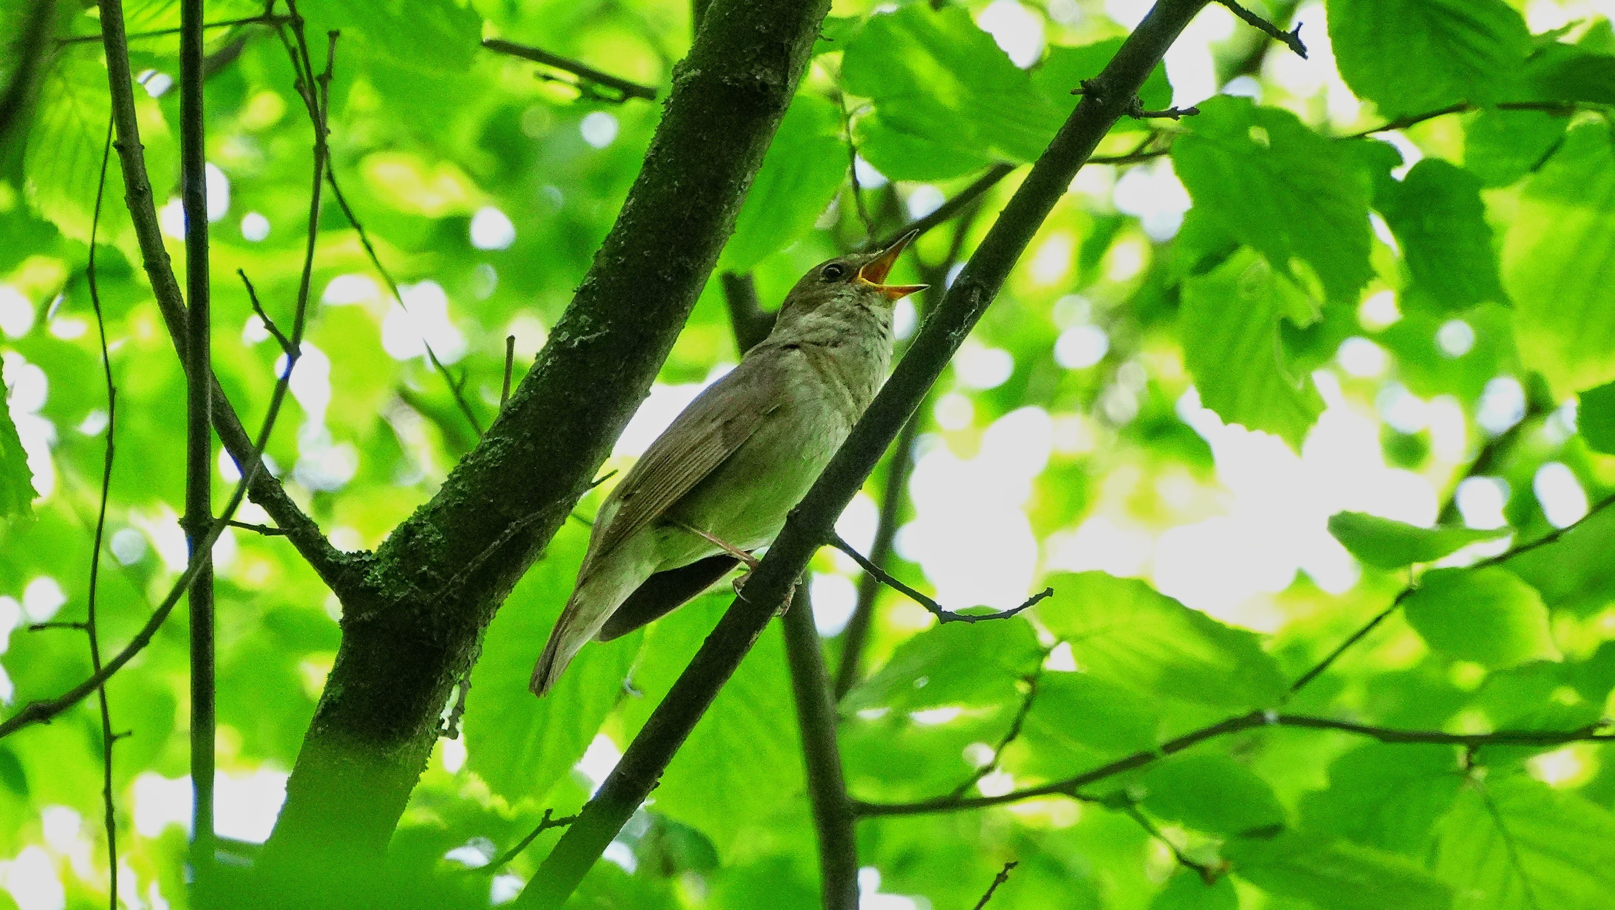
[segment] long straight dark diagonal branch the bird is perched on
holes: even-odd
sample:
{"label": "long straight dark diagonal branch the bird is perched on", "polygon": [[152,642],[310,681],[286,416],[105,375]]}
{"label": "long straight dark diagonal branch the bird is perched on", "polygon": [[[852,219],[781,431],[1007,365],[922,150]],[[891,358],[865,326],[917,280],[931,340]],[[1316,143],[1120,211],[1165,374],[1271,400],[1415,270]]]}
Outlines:
{"label": "long straight dark diagonal branch the bird is perched on", "polygon": [[[767,556],[707,637],[672,690],[628,745],[622,761],[583,808],[581,818],[560,837],[554,852],[522,892],[528,907],[559,907],[599,858],[622,824],[651,792],[673,752],[699,721],[717,690],[733,674],[762,627],[820,543],[830,538],[835,517],[864,485],[869,472],[891,444],[914,407],[946,369],[964,336],[982,317],[1021,252],[1055,207],[1077,168],[1124,113],[1124,102],[1176,40],[1205,0],[1160,0],[1127,37],[1100,74],[1108,89],[1089,95],[1061,126],[1032,173],[1009,199],[1005,212],[959,273],[937,314],[925,322],[891,380],[837,451],[830,466],[793,509]],[[706,37],[722,6],[709,10]]]}

